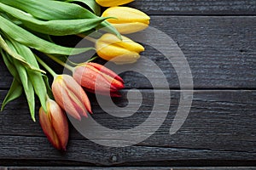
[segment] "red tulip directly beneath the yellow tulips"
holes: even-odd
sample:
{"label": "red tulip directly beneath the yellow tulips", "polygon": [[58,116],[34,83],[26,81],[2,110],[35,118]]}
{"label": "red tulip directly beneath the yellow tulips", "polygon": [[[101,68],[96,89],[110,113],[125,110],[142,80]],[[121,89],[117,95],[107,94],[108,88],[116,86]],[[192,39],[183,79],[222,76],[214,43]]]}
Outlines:
{"label": "red tulip directly beneath the yellow tulips", "polygon": [[87,91],[95,94],[119,97],[119,89],[124,88],[121,77],[105,66],[91,62],[76,66],[73,78]]}

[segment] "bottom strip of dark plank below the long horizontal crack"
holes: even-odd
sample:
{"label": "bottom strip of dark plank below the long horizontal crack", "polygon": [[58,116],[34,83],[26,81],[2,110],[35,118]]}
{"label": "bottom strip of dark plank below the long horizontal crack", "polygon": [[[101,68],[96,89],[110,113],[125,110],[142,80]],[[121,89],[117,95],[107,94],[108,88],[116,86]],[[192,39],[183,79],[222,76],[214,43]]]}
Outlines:
{"label": "bottom strip of dark plank below the long horizontal crack", "polygon": [[[106,148],[92,144],[88,140],[71,140],[68,152],[60,154],[48,145],[43,137],[18,137],[3,136],[0,139],[4,143],[1,147],[1,162],[4,159],[26,160],[55,160],[84,162],[97,166],[172,166],[173,161],[183,161],[184,166],[204,165],[219,166],[226,160],[233,162],[255,162],[255,152],[238,152],[225,150],[193,150],[178,149],[159,146],[130,146],[125,148]],[[9,141],[9,142],[7,142]],[[46,147],[47,146],[47,147]],[[200,161],[199,161],[200,160]],[[211,162],[211,160],[214,160]],[[188,161],[187,163],[185,163]],[[197,164],[196,164],[197,163]],[[251,164],[252,166],[252,164]]]}

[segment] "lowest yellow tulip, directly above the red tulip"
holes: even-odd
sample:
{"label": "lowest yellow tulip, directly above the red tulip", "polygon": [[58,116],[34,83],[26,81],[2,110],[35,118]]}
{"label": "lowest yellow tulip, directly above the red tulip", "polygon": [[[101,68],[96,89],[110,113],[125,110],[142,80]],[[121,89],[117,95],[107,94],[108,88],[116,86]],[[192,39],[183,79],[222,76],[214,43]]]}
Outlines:
{"label": "lowest yellow tulip, directly above the red tulip", "polygon": [[122,36],[122,40],[113,34],[106,33],[96,41],[96,52],[102,58],[116,64],[135,63],[144,48],[137,42]]}

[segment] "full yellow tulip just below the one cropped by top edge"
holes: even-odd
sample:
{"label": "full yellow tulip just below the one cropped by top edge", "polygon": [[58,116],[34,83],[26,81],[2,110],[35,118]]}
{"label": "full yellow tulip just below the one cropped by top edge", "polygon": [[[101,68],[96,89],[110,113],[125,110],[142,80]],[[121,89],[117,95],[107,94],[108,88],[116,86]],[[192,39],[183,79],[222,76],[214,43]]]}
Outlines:
{"label": "full yellow tulip just below the one cropped by top edge", "polygon": [[102,17],[113,17],[108,19],[121,34],[130,34],[143,31],[149,25],[150,17],[136,8],[111,7],[105,10]]}

